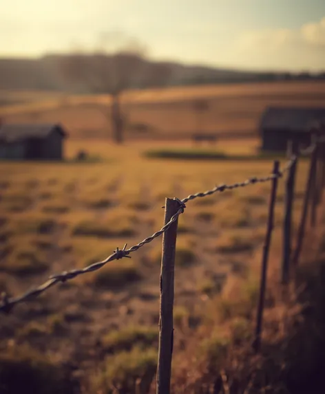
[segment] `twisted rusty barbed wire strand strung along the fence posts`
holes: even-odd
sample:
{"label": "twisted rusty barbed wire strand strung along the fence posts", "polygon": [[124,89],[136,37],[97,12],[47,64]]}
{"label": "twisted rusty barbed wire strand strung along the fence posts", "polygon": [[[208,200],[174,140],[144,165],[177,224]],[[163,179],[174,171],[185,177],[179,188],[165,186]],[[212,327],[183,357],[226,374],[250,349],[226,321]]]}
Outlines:
{"label": "twisted rusty barbed wire strand strung along the fence posts", "polygon": [[[58,283],[64,283],[68,280],[76,278],[76,276],[80,276],[83,274],[87,274],[89,272],[94,272],[96,270],[100,270],[104,265],[106,265],[107,263],[109,263],[111,261],[120,260],[123,258],[130,259],[131,258],[131,256],[129,256],[130,253],[136,252],[136,250],[139,250],[140,248],[142,248],[143,245],[150,243],[151,241],[154,241],[154,239],[156,239],[157,237],[160,237],[160,235],[162,235],[164,232],[166,232],[169,229],[169,227],[171,226],[171,224],[173,224],[178,219],[178,217],[184,212],[184,210],[186,208],[185,204],[188,201],[191,201],[196,198],[207,197],[207,196],[213,195],[215,193],[222,193],[225,190],[233,190],[235,188],[243,188],[243,187],[246,187],[249,185],[263,183],[263,182],[269,182],[275,178],[283,177],[284,173],[286,173],[286,171],[289,171],[290,168],[293,166],[293,164],[297,161],[297,157],[299,157],[302,153],[303,154],[306,154],[306,152],[308,154],[313,153],[313,151],[315,150],[315,147],[316,147],[316,143],[313,142],[313,144],[311,144],[311,146],[308,146],[308,148],[305,149],[304,151],[300,151],[298,154],[292,155],[290,160],[288,160],[288,162],[286,162],[286,165],[284,166],[283,170],[278,171],[278,173],[272,173],[271,175],[267,175],[264,177],[250,177],[249,179],[245,180],[244,182],[237,182],[237,183],[229,184],[229,185],[221,184],[219,186],[214,187],[211,190],[207,190],[202,193],[196,193],[193,195],[189,195],[181,200],[178,199],[177,197],[174,197],[174,200],[178,201],[178,204],[180,206],[178,211],[175,213],[175,215],[173,215],[171,217],[171,219],[169,220],[168,223],[165,224],[165,226],[162,226],[162,228],[160,228],[160,230],[158,230],[157,232],[152,234],[150,237],[143,239],[143,241],[140,241],[139,243],[137,243],[136,245],[133,245],[129,249],[127,249],[127,243],[125,243],[123,249],[120,250],[120,249],[116,248],[116,250],[114,250],[114,252],[110,256],[108,256],[105,260],[98,261],[97,263],[93,263],[91,265],[88,265],[85,268],[82,268],[79,270],[65,271],[65,272],[62,272],[61,274],[54,274],[54,275],[50,276],[50,278],[48,278],[48,281],[45,281],[45,283],[43,283],[39,287],[34,287],[33,289],[30,289],[28,292],[25,292],[21,296],[9,298],[8,294],[3,292],[3,294],[1,294],[0,312],[4,312],[4,313],[8,314],[15,305],[22,303],[23,301],[27,301],[30,298],[34,298],[36,296],[39,296],[40,294],[42,294],[46,290],[50,289],[50,287],[52,287]],[[162,208],[164,208],[164,207],[162,207]]]}

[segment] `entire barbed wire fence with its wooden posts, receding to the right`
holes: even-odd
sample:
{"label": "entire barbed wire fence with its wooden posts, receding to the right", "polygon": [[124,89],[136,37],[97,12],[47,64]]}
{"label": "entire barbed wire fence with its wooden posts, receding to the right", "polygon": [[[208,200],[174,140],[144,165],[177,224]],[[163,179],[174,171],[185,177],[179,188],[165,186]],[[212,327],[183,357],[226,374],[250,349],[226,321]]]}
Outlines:
{"label": "entire barbed wire fence with its wooden posts, receding to the right", "polygon": [[[271,197],[269,203],[269,216],[267,220],[266,237],[263,247],[262,256],[262,270],[260,281],[260,296],[258,300],[258,311],[256,317],[255,340],[253,342],[253,349],[256,352],[260,351],[261,334],[262,334],[262,319],[264,311],[264,298],[266,293],[266,273],[267,263],[269,258],[269,248],[271,244],[271,234],[273,230],[273,217],[275,200],[277,193],[277,183],[280,178],[286,177],[286,194],[285,194],[285,212],[284,212],[284,226],[283,226],[283,257],[282,257],[282,274],[281,283],[286,285],[289,283],[290,274],[294,267],[297,266],[302,250],[302,243],[304,240],[304,232],[306,228],[306,218],[308,215],[308,208],[311,207],[311,225],[315,226],[316,211],[319,206],[322,190],[325,188],[325,128],[320,125],[311,130],[312,142],[306,149],[299,149],[297,143],[292,141],[288,146],[289,160],[280,170],[280,163],[273,162],[273,170],[270,175],[264,177],[251,177],[234,184],[221,184],[215,186],[211,190],[205,192],[189,195],[183,199],[167,198],[165,201],[165,224],[152,234],[150,237],[143,239],[131,248],[127,248],[125,243],[122,249],[116,248],[114,252],[103,261],[98,261],[80,270],[70,270],[61,272],[61,274],[54,274],[48,278],[48,281],[30,289],[28,292],[20,296],[9,297],[8,294],[1,294],[0,312],[9,314],[12,309],[19,303],[28,301],[36,296],[46,292],[50,287],[59,283],[70,281],[77,276],[100,270],[107,263],[120,260],[124,258],[130,259],[132,252],[136,252],[144,245],[154,241],[154,239],[162,235],[162,261],[160,271],[160,320],[159,320],[159,345],[158,345],[158,367],[157,367],[157,393],[169,394],[171,382],[171,359],[173,353],[174,343],[174,325],[173,325],[173,309],[174,309],[174,265],[176,254],[176,237],[178,228],[178,217],[185,212],[187,202],[197,198],[204,198],[215,193],[223,193],[226,190],[234,190],[236,188],[244,188],[255,184],[264,182],[271,182]],[[308,179],[306,183],[306,190],[304,192],[304,202],[302,207],[302,216],[297,232],[297,242],[295,250],[291,250],[292,240],[292,208],[293,199],[295,197],[295,175],[297,170],[297,162],[300,157],[310,156],[310,166],[308,171]]]}

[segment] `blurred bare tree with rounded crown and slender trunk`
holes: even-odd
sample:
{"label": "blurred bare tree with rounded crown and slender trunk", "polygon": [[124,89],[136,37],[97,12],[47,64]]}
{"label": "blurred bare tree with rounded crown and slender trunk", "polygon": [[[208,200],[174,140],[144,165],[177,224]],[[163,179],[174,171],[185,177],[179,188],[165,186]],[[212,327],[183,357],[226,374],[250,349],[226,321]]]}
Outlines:
{"label": "blurred bare tree with rounded crown and slender trunk", "polygon": [[[114,41],[118,41],[114,37]],[[81,52],[63,56],[61,71],[71,83],[78,84],[95,94],[110,94],[112,105],[110,120],[114,142],[123,138],[123,113],[120,96],[126,89],[163,85],[169,78],[167,69],[147,61],[146,50],[138,41],[123,39],[114,52],[107,52],[112,35],[103,34],[98,49],[92,54]]]}

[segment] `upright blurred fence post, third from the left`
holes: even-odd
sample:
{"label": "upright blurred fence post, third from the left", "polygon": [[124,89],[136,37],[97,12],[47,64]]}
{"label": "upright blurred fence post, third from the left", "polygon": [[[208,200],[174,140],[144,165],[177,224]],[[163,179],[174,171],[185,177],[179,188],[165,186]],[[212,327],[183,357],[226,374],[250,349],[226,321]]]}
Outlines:
{"label": "upright blurred fence post, third from the left", "polygon": [[[288,155],[297,152],[297,144],[291,142],[288,144]],[[282,284],[289,282],[290,256],[291,256],[291,226],[292,226],[292,210],[293,199],[295,197],[295,173],[297,170],[297,160],[295,160],[289,169],[286,179],[286,195],[284,204],[284,226],[283,226],[283,256],[282,256]]]}

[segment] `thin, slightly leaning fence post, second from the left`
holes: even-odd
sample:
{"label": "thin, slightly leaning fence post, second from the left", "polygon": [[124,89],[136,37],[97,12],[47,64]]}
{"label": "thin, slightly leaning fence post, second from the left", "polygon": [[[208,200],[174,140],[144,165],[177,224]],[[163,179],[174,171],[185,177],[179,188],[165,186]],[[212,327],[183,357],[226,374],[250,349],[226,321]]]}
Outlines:
{"label": "thin, slightly leaning fence post, second from the left", "polygon": [[[279,162],[275,161],[273,166],[273,174],[279,174]],[[263,256],[262,256],[262,273],[260,282],[260,297],[258,300],[258,314],[256,318],[256,330],[255,330],[255,340],[253,342],[253,349],[256,353],[260,351],[261,345],[261,333],[262,333],[262,322],[263,322],[263,311],[264,311],[264,300],[266,292],[266,277],[267,277],[267,265],[269,259],[269,250],[271,244],[271,236],[274,227],[274,207],[277,194],[277,179],[275,177],[272,182],[271,197],[269,204],[269,219],[266,228],[265,242],[263,246]]]}

